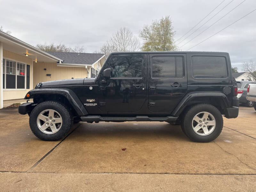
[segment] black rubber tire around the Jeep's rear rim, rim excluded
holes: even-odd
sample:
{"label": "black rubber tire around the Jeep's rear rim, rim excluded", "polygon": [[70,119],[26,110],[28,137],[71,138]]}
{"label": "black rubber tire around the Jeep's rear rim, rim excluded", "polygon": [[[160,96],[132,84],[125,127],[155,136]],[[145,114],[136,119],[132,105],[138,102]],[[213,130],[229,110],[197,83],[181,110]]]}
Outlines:
{"label": "black rubber tire around the Jeep's rear rim, rim excluded", "polygon": [[[197,134],[192,127],[194,116],[200,112],[208,112],[215,118],[215,128],[208,135]],[[197,104],[188,109],[185,113],[181,125],[182,131],[188,136],[189,139],[195,142],[210,142],[215,140],[221,133],[223,128],[223,118],[220,111],[210,104]]]}

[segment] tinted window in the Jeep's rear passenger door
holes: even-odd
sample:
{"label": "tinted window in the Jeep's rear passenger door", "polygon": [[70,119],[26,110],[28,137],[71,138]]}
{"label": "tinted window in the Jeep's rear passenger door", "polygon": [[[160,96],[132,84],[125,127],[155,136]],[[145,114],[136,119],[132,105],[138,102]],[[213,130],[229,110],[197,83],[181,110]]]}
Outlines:
{"label": "tinted window in the Jeep's rear passenger door", "polygon": [[152,77],[182,77],[182,57],[152,57]]}

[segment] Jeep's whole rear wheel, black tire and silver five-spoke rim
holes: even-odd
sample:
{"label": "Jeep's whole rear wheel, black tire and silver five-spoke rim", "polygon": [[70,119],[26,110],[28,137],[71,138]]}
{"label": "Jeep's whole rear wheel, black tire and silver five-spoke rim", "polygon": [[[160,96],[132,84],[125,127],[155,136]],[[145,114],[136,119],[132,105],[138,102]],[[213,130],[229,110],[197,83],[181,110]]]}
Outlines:
{"label": "Jeep's whole rear wheel, black tire and silver five-spoke rim", "polygon": [[223,127],[220,111],[209,104],[198,104],[186,112],[182,131],[196,142],[210,142],[216,139]]}

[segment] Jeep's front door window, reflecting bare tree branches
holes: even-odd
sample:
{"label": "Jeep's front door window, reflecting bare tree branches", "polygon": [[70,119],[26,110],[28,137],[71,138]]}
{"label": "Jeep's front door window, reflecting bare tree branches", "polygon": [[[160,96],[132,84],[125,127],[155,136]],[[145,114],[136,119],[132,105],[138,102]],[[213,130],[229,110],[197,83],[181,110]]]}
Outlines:
{"label": "Jeep's front door window, reflecting bare tree branches", "polygon": [[114,57],[109,65],[111,77],[142,77],[142,57]]}

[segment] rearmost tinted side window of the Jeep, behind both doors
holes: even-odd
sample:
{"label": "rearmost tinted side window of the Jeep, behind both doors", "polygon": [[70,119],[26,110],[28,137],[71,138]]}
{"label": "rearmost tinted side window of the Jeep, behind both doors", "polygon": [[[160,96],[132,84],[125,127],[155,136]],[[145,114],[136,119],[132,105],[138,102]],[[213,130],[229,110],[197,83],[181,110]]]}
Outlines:
{"label": "rearmost tinted side window of the Jeep, behind both doors", "polygon": [[225,57],[193,56],[193,76],[196,78],[225,78],[228,76]]}

